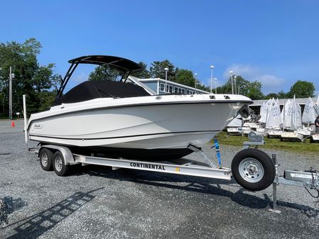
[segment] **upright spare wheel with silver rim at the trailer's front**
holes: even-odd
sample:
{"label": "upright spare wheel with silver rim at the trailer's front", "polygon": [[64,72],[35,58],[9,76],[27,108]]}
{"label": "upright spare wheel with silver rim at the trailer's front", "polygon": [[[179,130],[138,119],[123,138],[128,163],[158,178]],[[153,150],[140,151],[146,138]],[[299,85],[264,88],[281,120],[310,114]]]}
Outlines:
{"label": "upright spare wheel with silver rim at the trailer's front", "polygon": [[271,157],[256,148],[242,150],[232,160],[232,175],[239,185],[260,191],[274,182],[276,168]]}

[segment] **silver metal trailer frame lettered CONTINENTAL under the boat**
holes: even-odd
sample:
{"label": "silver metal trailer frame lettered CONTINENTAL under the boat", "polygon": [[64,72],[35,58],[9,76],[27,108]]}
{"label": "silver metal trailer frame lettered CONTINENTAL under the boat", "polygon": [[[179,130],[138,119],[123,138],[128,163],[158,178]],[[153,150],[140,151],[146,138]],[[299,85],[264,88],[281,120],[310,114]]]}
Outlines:
{"label": "silver metal trailer frame lettered CONTINENTAL under the boat", "polygon": [[151,172],[166,172],[169,174],[180,174],[195,177],[207,177],[214,179],[232,179],[231,169],[227,167],[216,167],[212,160],[207,157],[202,150],[190,145],[189,148],[194,152],[200,152],[200,156],[205,162],[180,158],[178,160],[165,161],[141,161],[128,160],[124,158],[97,157],[93,153],[88,155],[80,155],[72,153],[65,146],[60,145],[43,145],[40,148],[29,148],[29,152],[36,152],[39,156],[40,150],[48,148],[51,150],[60,151],[63,154],[65,165],[101,165],[109,166],[112,169],[138,169]]}

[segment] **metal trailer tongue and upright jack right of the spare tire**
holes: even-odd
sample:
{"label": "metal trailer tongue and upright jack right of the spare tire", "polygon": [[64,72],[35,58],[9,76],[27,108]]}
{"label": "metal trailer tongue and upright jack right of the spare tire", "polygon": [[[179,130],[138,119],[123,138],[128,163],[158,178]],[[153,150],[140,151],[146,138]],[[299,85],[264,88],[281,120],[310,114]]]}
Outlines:
{"label": "metal trailer tongue and upright jack right of the spare tire", "polygon": [[[285,170],[283,176],[279,176],[277,164],[276,154],[272,155],[272,160],[276,167],[276,177],[273,182],[273,206],[269,211],[273,211],[275,213],[281,213],[278,210],[277,205],[277,186],[279,184],[283,185],[291,185],[296,187],[305,187],[308,189],[315,189],[318,191],[319,195],[319,173],[313,169],[309,171],[294,171],[294,170]],[[308,191],[309,192],[309,191]]]}

